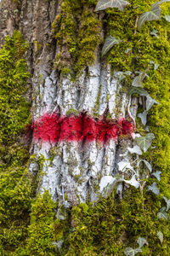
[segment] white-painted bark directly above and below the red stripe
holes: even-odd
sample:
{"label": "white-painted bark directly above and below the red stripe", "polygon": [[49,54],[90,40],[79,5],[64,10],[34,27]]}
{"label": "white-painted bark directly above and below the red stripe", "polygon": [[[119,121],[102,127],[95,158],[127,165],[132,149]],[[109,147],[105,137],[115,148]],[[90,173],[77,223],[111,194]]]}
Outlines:
{"label": "white-painted bark directly above and below the red stripe", "polygon": [[[66,115],[70,110],[77,113],[85,110],[89,115],[97,111],[101,118],[107,107],[111,118],[126,118],[127,95],[120,94],[122,85],[116,74],[111,76],[110,66],[101,67],[100,63],[96,63],[94,67],[88,67],[88,74],[82,71],[82,76],[76,82],[69,77],[58,78],[54,71],[47,75],[41,66],[33,80],[32,114],[35,119],[45,111],[60,111],[61,115]],[[94,141],[83,147],[78,142],[62,142],[56,146],[52,143],[48,146],[46,143],[34,143],[33,153],[42,154],[46,159],[39,191],[42,193],[48,189],[59,205],[65,203],[63,193],[71,205],[86,202],[87,199],[98,200],[99,191],[105,186],[103,182],[108,181],[103,177],[110,177],[110,181],[114,181],[116,171],[124,173],[130,169],[133,172],[128,159],[117,164],[120,156],[116,143],[111,140],[104,146]],[[58,154],[54,155],[54,160],[50,160],[53,147],[57,147]],[[121,154],[122,151],[119,149],[118,152]],[[33,168],[30,167],[30,170]]]}

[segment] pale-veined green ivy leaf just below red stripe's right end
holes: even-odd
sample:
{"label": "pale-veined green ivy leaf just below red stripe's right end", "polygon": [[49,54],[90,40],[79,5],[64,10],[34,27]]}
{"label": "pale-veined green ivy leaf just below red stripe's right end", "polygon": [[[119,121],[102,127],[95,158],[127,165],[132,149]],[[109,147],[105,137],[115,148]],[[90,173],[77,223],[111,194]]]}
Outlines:
{"label": "pale-veined green ivy leaf just below red stripe's right end", "polygon": [[150,145],[154,138],[155,135],[153,133],[148,133],[145,137],[135,137],[135,141],[145,153],[148,150],[148,148],[150,148]]}

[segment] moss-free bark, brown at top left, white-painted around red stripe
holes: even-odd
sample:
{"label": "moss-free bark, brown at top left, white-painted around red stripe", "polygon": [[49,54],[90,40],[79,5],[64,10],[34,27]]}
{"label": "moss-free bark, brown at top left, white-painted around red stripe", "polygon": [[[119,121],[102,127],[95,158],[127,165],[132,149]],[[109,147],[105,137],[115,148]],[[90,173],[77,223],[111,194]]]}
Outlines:
{"label": "moss-free bark, brown at top left, white-painted around red stripe", "polygon": [[[1,34],[12,35],[14,29],[19,29],[30,44],[27,60],[32,73],[32,121],[43,113],[57,111],[67,115],[71,110],[86,111],[91,116],[97,112],[100,119],[105,112],[111,114],[111,119],[127,118],[128,96],[122,92],[118,73],[111,73],[111,66],[101,61],[100,48],[95,49],[95,64],[84,67],[76,82],[54,69],[55,55],[61,49],[52,36],[51,25],[60,13],[60,5],[60,1],[5,1],[1,8]],[[136,110],[137,102],[133,102],[133,117]],[[31,154],[46,159],[39,191],[49,189],[53,199],[60,202],[65,193],[71,205],[77,205],[78,198],[82,202],[97,200],[101,177],[117,172],[122,149],[129,143],[124,139],[110,141],[106,146],[95,141],[85,146],[77,142],[58,143],[51,162],[48,159],[53,145],[32,141]],[[31,163],[31,172],[36,165]]]}

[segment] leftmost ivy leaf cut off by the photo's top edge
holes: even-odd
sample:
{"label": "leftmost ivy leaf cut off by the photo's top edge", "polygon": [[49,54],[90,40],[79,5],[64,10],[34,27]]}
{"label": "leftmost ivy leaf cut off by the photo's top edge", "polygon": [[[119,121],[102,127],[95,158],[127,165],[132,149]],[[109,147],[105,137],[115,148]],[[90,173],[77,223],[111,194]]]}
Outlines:
{"label": "leftmost ivy leaf cut off by the photo's top edge", "polygon": [[113,8],[113,7],[116,7],[120,9],[120,11],[123,11],[123,9],[125,9],[127,4],[130,4],[130,3],[124,0],[99,0],[99,2],[96,5],[95,11],[103,10],[106,8]]}

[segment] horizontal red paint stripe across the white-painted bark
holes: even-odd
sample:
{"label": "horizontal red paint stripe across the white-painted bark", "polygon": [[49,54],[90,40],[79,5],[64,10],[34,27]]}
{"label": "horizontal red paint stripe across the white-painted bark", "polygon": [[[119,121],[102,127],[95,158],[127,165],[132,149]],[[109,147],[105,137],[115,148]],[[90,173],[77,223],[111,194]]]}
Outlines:
{"label": "horizontal red paint stripe across the white-painted bark", "polygon": [[98,119],[95,120],[88,114],[81,113],[70,117],[59,114],[46,113],[32,125],[35,140],[58,143],[59,141],[92,142],[97,140],[107,143],[118,137],[132,136],[133,123],[126,119]]}

